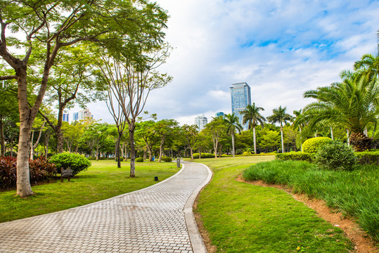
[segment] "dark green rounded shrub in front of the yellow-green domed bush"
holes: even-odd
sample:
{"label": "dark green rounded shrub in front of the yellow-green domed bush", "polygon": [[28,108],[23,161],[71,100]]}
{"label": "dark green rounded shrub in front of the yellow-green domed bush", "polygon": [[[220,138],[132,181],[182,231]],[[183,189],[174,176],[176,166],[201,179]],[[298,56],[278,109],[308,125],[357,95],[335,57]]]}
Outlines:
{"label": "dark green rounded shrub in front of the yellow-green domed bush", "polygon": [[352,171],[356,166],[356,156],[345,143],[333,141],[316,153],[314,160],[322,169]]}

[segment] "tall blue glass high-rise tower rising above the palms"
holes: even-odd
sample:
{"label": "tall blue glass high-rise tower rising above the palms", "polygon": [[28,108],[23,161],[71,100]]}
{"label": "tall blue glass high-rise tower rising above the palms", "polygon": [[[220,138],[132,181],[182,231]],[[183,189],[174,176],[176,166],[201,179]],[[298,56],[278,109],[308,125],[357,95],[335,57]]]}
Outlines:
{"label": "tall blue glass high-rise tower rising above the palms", "polygon": [[[233,84],[231,87],[231,112],[243,122],[243,115],[240,111],[251,105],[250,86],[243,83]],[[243,130],[248,130],[248,124],[243,124]]]}

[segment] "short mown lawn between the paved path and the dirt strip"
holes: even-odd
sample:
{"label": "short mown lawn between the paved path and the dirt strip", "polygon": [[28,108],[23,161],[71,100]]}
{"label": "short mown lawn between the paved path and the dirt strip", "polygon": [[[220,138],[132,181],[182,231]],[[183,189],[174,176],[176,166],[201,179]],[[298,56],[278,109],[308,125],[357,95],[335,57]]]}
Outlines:
{"label": "short mown lawn between the paved path and the dirt strip", "polygon": [[283,190],[236,181],[244,169],[274,157],[195,160],[213,171],[195,210],[217,252],[349,252],[340,228]]}

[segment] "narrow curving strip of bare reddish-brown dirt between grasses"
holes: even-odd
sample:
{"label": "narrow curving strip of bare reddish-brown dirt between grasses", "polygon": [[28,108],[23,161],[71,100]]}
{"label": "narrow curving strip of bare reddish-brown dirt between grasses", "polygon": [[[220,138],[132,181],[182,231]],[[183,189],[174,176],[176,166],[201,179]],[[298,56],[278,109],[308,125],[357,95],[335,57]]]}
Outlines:
{"label": "narrow curving strip of bare reddish-brown dirt between grasses", "polygon": [[354,222],[353,219],[347,219],[340,212],[336,212],[336,210],[330,209],[326,206],[326,203],[323,200],[310,199],[305,194],[292,193],[290,188],[267,184],[263,181],[244,181],[242,176],[238,176],[238,178],[236,178],[236,181],[250,183],[255,186],[273,187],[284,190],[286,193],[292,195],[295,200],[303,202],[305,205],[307,205],[307,207],[314,209],[319,217],[328,221],[333,226],[338,226],[341,228],[342,231],[345,232],[347,238],[349,238],[354,243],[354,252],[379,252],[378,248],[374,246],[373,240],[364,231],[361,230],[359,225]]}

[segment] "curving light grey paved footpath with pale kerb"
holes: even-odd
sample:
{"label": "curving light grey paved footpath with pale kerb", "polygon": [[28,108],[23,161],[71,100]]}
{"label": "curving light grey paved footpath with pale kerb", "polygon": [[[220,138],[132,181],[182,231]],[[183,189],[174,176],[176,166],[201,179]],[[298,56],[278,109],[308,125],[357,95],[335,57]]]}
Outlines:
{"label": "curving light grey paved footpath with pale kerb", "polygon": [[203,164],[183,164],[148,188],[0,223],[0,252],[206,252],[192,205],[212,173]]}

